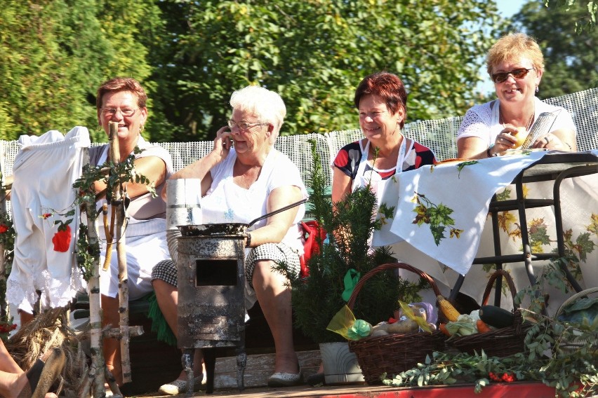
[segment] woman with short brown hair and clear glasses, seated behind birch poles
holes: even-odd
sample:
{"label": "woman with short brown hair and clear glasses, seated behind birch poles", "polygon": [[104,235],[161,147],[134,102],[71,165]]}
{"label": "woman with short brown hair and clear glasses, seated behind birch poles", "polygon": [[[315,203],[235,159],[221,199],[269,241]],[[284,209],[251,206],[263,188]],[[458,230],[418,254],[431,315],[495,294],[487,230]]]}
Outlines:
{"label": "woman with short brown hair and clear glasses, seated behind birch poles", "polygon": [[[128,294],[130,300],[140,299],[152,289],[152,268],[156,261],[170,259],[166,244],[166,202],[161,196],[164,182],[173,173],[172,159],[168,151],[146,142],[141,136],[147,122],[147,95],[134,78],[117,77],[105,81],[98,88],[98,123],[109,134],[109,123],[118,123],[118,140],[122,162],[134,153],[135,146],[142,151],[135,153],[135,172],[152,181],[157,195],[152,195],[145,184],[126,184],[128,205],[126,227],[126,263]],[[110,158],[109,145],[94,146],[89,151],[91,165],[103,165]],[[98,207],[105,202],[106,184],[95,182]],[[107,249],[103,228],[98,228],[102,242],[101,259],[105,260]],[[118,327],[119,318],[119,265],[117,245],[112,246],[111,262],[107,270],[100,272],[102,294],[102,325]],[[116,338],[104,339],[106,366],[119,385],[123,384],[120,342]]]}

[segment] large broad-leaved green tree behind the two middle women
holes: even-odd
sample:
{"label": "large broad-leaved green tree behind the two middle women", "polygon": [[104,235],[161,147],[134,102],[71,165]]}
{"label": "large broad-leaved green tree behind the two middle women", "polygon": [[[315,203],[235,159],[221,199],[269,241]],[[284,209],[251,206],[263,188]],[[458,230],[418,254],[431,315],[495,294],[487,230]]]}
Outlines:
{"label": "large broad-leaved green tree behind the two middle women", "polygon": [[463,114],[477,102],[479,55],[496,36],[485,0],[161,1],[169,36],[152,49],[156,102],[185,129],[213,136],[248,84],[284,98],[283,133],[357,128],[352,96],[386,69],[404,79],[408,121]]}

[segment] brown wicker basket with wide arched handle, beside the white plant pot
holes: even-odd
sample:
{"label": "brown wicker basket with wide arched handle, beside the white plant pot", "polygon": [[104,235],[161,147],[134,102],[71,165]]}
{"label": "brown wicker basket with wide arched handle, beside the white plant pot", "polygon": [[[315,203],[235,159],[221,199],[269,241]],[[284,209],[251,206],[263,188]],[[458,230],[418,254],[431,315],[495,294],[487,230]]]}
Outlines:
{"label": "brown wicker basket with wide arched handle, beside the white plant pot", "polygon": [[[399,268],[420,275],[432,286],[435,294],[440,294],[430,275],[406,263],[387,263],[373,268],[361,277],[355,285],[347,306],[353,309],[359,290],[373,275],[383,270]],[[349,349],[357,355],[357,362],[359,362],[366,383],[373,385],[382,383],[380,376],[384,372],[389,376],[394,376],[401,371],[415,367],[418,362],[425,362],[426,355],[432,356],[433,351],[444,349],[444,340],[445,336],[440,331],[434,331],[432,334],[425,332],[390,334],[350,341]]]}

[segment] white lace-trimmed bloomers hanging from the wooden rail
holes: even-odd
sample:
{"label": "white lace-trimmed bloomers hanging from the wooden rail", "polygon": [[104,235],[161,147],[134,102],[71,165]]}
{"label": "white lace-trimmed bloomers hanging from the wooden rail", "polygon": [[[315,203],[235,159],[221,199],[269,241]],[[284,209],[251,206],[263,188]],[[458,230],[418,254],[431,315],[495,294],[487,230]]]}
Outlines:
{"label": "white lace-trimmed bloomers hanging from the wooden rail", "polygon": [[[79,209],[73,206],[74,181],[81,176],[84,148],[91,145],[87,128],[76,127],[64,137],[51,130],[40,137],[22,136],[13,165],[11,192],[15,226],[15,256],[6,287],[6,301],[33,312],[37,292],[42,308],[66,306],[84,287],[75,262]],[[74,216],[65,216],[75,210]],[[44,214],[51,214],[42,217]],[[66,252],[54,249],[55,221],[69,224]]]}

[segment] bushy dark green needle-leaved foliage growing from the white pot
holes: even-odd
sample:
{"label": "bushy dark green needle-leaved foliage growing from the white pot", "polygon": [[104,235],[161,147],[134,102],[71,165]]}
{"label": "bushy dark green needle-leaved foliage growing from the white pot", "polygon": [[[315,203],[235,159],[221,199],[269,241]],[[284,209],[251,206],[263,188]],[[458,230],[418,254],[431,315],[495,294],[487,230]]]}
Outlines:
{"label": "bushy dark green needle-leaved foliage growing from the white pot", "polygon": [[[372,217],[376,195],[368,187],[358,188],[346,195],[333,213],[314,143],[312,152],[314,172],[309,183],[312,188],[310,201],[314,205],[315,219],[330,232],[329,242],[318,242],[321,250],[310,259],[308,277],[288,277],[293,288],[295,324],[313,341],[327,343],[343,341],[341,336],[326,330],[326,327],[335,313],[345,306],[341,294],[345,290],[344,277],[347,271],[354,269],[363,276],[393,259],[392,253],[385,247],[376,251],[368,247],[368,238],[376,228],[376,221]],[[359,291],[353,308],[354,315],[357,319],[377,324],[393,315],[398,308],[399,298],[407,302],[418,301],[418,291],[422,288],[423,284],[411,284],[392,271],[378,273]]]}

